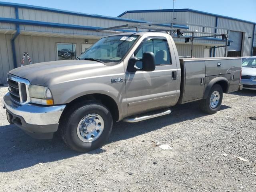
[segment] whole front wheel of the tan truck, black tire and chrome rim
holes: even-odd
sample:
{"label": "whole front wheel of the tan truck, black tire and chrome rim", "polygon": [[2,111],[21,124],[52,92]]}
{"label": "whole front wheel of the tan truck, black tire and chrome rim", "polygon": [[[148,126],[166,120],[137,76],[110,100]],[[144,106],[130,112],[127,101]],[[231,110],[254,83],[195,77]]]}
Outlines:
{"label": "whole front wheel of the tan truck, black tire and chrome rim", "polygon": [[86,152],[101,147],[112,131],[112,115],[99,103],[78,102],[60,122],[61,136],[72,150]]}

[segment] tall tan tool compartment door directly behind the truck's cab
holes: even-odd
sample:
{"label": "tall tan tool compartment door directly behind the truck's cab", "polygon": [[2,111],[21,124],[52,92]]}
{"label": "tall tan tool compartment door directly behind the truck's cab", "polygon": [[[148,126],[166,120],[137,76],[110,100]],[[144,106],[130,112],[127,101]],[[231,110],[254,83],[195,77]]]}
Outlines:
{"label": "tall tan tool compartment door directly behind the truck's cab", "polygon": [[184,62],[185,87],[183,102],[203,97],[205,82],[205,61]]}

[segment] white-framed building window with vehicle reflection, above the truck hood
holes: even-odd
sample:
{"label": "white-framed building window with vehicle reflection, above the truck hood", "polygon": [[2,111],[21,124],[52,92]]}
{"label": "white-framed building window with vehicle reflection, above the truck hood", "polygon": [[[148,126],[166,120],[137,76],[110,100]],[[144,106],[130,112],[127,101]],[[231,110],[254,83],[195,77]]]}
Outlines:
{"label": "white-framed building window with vehicle reflection, above the truck hood", "polygon": [[76,44],[57,43],[58,60],[76,59]]}

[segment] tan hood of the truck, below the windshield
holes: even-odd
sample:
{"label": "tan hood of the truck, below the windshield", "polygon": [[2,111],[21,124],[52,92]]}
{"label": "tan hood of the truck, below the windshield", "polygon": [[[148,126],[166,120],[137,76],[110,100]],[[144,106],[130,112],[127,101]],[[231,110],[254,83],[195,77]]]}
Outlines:
{"label": "tan hood of the truck, below the windshield", "polygon": [[86,76],[90,74],[88,70],[97,68],[99,71],[108,66],[89,60],[62,60],[51,61],[26,65],[15,68],[9,73],[15,76],[25,78],[30,81],[30,84],[44,85],[52,78],[60,76],[76,74],[86,71]]}

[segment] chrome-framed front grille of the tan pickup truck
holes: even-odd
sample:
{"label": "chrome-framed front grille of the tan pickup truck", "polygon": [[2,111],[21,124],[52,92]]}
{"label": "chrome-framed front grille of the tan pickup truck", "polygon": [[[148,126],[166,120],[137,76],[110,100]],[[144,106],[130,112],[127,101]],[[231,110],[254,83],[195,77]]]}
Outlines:
{"label": "chrome-framed front grille of the tan pickup truck", "polygon": [[7,83],[10,97],[14,102],[18,104],[25,104],[29,102],[28,80],[8,74]]}

